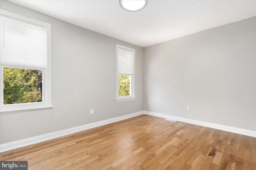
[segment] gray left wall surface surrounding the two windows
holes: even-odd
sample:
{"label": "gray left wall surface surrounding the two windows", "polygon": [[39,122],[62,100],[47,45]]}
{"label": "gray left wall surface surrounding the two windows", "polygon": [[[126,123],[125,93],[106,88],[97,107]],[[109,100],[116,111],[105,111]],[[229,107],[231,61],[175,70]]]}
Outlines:
{"label": "gray left wall surface surrounding the two windows", "polygon": [[[0,113],[0,144],[143,110],[143,48],[0,1],[52,24],[52,109]],[[136,100],[116,103],[116,44],[136,50]],[[94,109],[94,115],[90,115]]]}

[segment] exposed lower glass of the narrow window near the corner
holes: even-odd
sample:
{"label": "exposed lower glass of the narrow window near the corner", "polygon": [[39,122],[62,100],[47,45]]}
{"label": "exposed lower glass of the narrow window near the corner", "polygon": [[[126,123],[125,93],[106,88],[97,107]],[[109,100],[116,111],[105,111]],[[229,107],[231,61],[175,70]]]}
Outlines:
{"label": "exposed lower glass of the narrow window near the corner", "polygon": [[119,96],[130,96],[130,76],[119,75]]}

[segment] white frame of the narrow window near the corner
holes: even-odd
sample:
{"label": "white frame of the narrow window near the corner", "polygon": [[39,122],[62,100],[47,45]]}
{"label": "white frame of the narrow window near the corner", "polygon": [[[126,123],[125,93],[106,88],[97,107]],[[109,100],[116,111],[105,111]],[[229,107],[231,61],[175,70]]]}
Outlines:
{"label": "white frame of the narrow window near the corner", "polygon": [[[119,48],[133,52],[133,74],[130,76],[130,96],[119,96]],[[116,102],[135,100],[135,49],[116,44]]]}

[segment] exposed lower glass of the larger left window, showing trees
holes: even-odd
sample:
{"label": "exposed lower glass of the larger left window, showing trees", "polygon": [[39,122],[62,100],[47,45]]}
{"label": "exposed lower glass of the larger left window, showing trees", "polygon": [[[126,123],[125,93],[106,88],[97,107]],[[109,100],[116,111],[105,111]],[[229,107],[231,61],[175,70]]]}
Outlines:
{"label": "exposed lower glass of the larger left window, showing trees", "polygon": [[42,102],[42,70],[4,67],[4,104]]}

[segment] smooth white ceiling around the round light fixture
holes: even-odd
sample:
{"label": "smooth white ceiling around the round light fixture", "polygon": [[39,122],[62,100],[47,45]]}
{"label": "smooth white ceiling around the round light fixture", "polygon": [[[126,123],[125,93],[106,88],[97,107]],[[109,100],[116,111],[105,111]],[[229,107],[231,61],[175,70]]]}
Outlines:
{"label": "smooth white ceiling around the round light fixture", "polygon": [[9,1],[140,47],[256,16],[256,0],[148,0],[138,12],[118,0]]}

